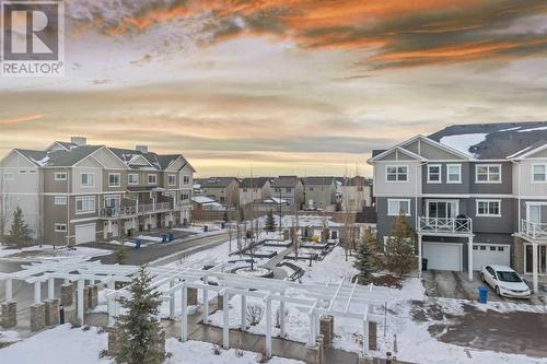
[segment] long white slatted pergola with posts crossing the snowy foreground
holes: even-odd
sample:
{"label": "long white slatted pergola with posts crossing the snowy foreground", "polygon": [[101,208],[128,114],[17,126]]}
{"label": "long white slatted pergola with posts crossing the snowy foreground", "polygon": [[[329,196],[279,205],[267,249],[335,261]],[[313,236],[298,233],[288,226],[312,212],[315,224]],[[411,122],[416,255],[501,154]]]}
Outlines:
{"label": "long white slatted pergola with posts crossing the snowy foreground", "polygon": [[[212,266],[202,269],[203,266]],[[386,289],[374,285],[359,285],[342,278],[337,283],[298,283],[266,278],[242,277],[224,271],[226,262],[212,263],[210,260],[199,259],[185,262],[177,267],[148,267],[147,270],[153,277],[152,286],[160,293],[163,301],[168,302],[170,318],[175,317],[175,294],[182,297],[181,315],[181,339],[188,340],[188,289],[199,290],[203,301],[203,322],[209,317],[209,293],[213,292],[222,297],[223,312],[223,347],[230,345],[230,309],[229,301],[234,295],[242,300],[242,330],[246,327],[246,300],[257,297],[265,303],[266,312],[266,354],[271,355],[272,339],[272,302],[279,302],[280,312],[284,313],[286,305],[292,304],[304,309],[310,317],[310,333],[307,344],[315,345],[319,334],[319,317],[331,315],[334,317],[346,317],[361,320],[363,322],[363,350],[369,350],[369,321],[381,321],[379,315],[371,312],[371,305],[385,302]],[[78,320],[83,324],[84,302],[83,289],[85,281],[92,284],[101,283],[106,286],[106,298],[108,306],[108,326],[114,326],[116,316],[119,315],[120,305],[118,297],[130,297],[127,289],[116,289],[116,282],[129,282],[131,275],[139,271],[138,266],[103,265],[98,261],[89,262],[79,259],[63,260],[62,262],[39,262],[23,266],[23,270],[13,273],[0,273],[0,280],[5,281],[5,297],[12,300],[12,280],[23,280],[34,283],[35,303],[40,302],[40,283],[48,282],[48,298],[54,298],[55,279],[68,282],[78,282]],[[356,309],[353,305],[359,305]],[[362,308],[364,307],[364,309]],[[280,334],[284,337],[284,314],[279,315]]]}

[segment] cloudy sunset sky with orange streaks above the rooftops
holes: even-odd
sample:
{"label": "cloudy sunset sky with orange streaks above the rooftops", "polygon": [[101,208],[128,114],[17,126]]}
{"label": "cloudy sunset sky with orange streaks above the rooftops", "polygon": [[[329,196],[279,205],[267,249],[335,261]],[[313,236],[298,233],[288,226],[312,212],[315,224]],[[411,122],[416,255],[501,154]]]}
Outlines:
{"label": "cloudy sunset sky with orange streaks above the rooftops", "polygon": [[454,124],[547,120],[545,0],[72,0],[62,78],[0,78],[0,156],[83,136],[198,176],[371,175]]}

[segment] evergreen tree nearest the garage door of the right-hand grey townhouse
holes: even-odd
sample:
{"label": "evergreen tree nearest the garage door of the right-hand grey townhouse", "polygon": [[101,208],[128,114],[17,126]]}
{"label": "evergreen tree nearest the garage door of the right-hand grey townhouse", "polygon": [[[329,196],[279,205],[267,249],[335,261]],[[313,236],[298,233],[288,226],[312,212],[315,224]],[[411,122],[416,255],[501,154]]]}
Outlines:
{"label": "evergreen tree nearest the garage door of the right-hand grey townhouse", "polygon": [[404,214],[399,214],[393,224],[392,233],[385,243],[386,268],[403,277],[415,266],[414,240],[416,233]]}

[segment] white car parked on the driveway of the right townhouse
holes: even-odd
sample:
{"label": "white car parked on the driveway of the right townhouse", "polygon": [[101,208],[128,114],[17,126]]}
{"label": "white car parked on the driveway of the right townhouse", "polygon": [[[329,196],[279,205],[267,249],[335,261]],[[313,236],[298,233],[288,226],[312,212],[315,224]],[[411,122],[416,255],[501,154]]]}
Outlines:
{"label": "white car parked on the driveway of the right townhouse", "polygon": [[529,298],[529,287],[521,275],[505,266],[485,266],[480,271],[482,282],[489,284],[499,296]]}

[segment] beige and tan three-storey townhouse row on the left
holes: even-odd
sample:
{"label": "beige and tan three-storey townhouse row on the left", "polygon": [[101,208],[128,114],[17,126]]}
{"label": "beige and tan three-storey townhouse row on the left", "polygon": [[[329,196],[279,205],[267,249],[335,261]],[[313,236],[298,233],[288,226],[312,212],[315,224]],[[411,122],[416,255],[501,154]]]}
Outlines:
{"label": "beige and tan three-storey townhouse row on the left", "polygon": [[[0,161],[0,203],[20,207],[34,238],[73,245],[190,221],[194,167],[182,154],[88,145],[85,138]],[[8,226],[10,222],[8,221]]]}

